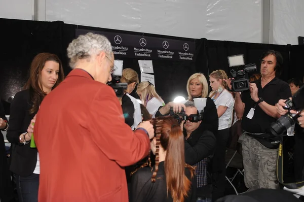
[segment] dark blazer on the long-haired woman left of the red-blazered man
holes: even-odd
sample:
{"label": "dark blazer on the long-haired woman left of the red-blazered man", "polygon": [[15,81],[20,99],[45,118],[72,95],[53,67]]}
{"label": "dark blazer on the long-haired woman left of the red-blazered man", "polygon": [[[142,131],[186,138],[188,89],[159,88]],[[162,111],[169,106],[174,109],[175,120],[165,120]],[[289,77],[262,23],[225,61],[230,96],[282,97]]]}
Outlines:
{"label": "dark blazer on the long-haired woman left of the red-blazered man", "polygon": [[10,170],[26,177],[33,173],[37,163],[37,149],[30,148],[30,144],[23,145],[19,141],[20,134],[27,131],[30,121],[35,116],[29,114],[31,108],[29,90],[17,92],[11,104],[10,126],[7,131],[7,140],[14,144],[11,154]]}

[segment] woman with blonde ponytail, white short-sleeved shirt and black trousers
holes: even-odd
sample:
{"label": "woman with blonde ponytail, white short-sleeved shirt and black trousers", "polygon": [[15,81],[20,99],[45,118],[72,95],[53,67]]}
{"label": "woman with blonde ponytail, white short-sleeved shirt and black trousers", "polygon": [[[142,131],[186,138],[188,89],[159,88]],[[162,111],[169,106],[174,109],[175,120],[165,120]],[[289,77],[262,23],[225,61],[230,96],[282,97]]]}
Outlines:
{"label": "woman with blonde ponytail, white short-sleeved shirt and black trousers", "polygon": [[229,127],[233,113],[234,98],[227,90],[225,80],[228,77],[223,70],[216,70],[209,75],[212,91],[210,97],[216,105],[218,131],[215,135],[216,147],[212,161],[212,199],[222,197],[225,191],[225,151],[229,138]]}

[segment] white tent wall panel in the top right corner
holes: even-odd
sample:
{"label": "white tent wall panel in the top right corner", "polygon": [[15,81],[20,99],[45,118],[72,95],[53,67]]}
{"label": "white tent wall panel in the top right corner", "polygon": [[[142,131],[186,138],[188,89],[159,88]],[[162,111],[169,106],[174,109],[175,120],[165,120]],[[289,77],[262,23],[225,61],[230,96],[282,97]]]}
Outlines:
{"label": "white tent wall panel in the top right corner", "polygon": [[273,1],[274,44],[297,45],[297,37],[304,37],[304,1]]}

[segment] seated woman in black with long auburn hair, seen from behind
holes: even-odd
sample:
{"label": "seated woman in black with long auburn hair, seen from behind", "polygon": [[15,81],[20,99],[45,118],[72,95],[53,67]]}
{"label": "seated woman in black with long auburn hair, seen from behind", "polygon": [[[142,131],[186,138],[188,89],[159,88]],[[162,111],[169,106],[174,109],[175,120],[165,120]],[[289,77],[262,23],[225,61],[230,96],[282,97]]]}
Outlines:
{"label": "seated woman in black with long auburn hair, seen from behind", "polygon": [[154,119],[155,138],[151,150],[155,166],[142,165],[132,175],[130,201],[196,201],[194,168],[185,163],[184,137],[178,122],[170,116]]}

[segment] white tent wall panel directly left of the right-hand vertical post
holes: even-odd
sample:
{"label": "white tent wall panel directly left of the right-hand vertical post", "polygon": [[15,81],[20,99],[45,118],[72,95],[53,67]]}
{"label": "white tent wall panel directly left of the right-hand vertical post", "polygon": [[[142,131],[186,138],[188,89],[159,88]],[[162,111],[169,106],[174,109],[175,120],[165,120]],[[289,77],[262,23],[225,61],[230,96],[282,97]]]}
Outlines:
{"label": "white tent wall panel directly left of the right-hand vertical post", "polygon": [[261,43],[261,0],[209,1],[206,38]]}

